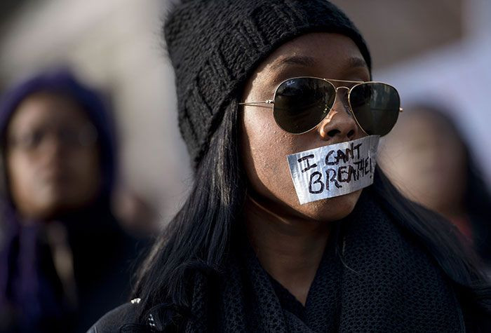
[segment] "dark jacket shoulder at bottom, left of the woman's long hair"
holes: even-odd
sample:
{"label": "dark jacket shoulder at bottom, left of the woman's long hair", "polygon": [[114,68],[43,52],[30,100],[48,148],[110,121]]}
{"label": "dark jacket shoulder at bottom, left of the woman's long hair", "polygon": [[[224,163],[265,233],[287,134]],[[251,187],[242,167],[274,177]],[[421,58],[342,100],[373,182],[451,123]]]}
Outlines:
{"label": "dark jacket shoulder at bottom, left of the woman's long hair", "polygon": [[87,333],[138,332],[144,325],[137,320],[140,299],[133,299],[102,316]]}

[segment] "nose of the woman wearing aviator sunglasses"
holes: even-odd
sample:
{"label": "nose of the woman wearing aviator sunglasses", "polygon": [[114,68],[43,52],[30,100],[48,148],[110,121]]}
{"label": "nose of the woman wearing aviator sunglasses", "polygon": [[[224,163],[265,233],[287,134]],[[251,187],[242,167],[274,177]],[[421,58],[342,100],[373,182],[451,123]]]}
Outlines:
{"label": "nose of the woman wearing aviator sunglasses", "polygon": [[332,141],[333,143],[354,140],[358,135],[358,124],[353,118],[347,96],[338,90],[337,98],[332,109],[323,121],[318,125],[318,133],[322,140]]}

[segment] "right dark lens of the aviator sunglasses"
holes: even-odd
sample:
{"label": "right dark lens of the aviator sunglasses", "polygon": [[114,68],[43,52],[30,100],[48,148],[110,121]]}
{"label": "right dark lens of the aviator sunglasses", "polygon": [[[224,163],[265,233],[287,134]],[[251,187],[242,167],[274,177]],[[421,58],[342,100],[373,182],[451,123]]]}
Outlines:
{"label": "right dark lens of the aviator sunglasses", "polygon": [[401,100],[385,83],[362,83],[349,95],[354,116],[368,135],[386,135],[396,125]]}

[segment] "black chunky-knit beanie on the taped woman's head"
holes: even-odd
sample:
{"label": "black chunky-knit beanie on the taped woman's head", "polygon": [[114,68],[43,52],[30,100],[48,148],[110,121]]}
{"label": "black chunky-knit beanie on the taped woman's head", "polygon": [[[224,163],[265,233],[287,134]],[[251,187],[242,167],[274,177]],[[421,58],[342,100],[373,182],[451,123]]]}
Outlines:
{"label": "black chunky-knit beanie on the taped woman's head", "polygon": [[349,36],[371,67],[358,29],[327,0],[184,0],[170,11],[164,34],[175,69],[180,131],[194,168],[257,65],[309,32]]}

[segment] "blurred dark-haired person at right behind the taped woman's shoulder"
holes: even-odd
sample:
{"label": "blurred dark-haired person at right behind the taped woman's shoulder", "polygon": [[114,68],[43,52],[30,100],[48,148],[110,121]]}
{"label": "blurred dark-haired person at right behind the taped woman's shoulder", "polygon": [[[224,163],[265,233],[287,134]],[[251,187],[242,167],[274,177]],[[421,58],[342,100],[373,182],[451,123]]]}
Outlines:
{"label": "blurred dark-haired person at right behind the taped woman's shoulder", "polygon": [[450,116],[430,105],[406,108],[379,161],[405,196],[455,224],[491,265],[491,195]]}

